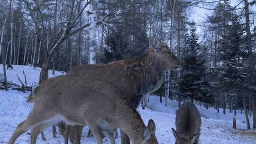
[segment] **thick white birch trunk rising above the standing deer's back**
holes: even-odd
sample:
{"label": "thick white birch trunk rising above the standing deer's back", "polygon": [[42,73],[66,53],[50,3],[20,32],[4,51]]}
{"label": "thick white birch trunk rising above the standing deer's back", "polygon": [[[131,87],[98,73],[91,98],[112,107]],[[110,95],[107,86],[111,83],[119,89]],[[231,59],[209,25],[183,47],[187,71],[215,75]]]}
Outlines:
{"label": "thick white birch trunk rising above the standing deer's back", "polygon": [[89,64],[96,63],[96,48],[98,44],[96,41],[98,4],[99,4],[99,0],[93,0],[92,15],[91,15],[91,30],[90,30]]}

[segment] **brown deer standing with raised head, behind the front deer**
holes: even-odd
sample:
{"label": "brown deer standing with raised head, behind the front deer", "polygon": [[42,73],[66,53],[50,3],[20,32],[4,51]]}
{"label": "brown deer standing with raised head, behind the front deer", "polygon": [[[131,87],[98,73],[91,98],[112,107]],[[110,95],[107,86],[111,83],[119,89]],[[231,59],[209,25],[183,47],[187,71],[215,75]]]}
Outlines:
{"label": "brown deer standing with raised head, behind the front deer", "polygon": [[[107,64],[78,65],[66,75],[109,81],[119,87],[133,108],[137,108],[144,95],[159,89],[163,72],[170,69],[179,71],[182,63],[167,45],[161,44],[154,36],[150,48],[140,57]],[[128,139],[122,132],[121,138],[126,139],[122,141]]]}

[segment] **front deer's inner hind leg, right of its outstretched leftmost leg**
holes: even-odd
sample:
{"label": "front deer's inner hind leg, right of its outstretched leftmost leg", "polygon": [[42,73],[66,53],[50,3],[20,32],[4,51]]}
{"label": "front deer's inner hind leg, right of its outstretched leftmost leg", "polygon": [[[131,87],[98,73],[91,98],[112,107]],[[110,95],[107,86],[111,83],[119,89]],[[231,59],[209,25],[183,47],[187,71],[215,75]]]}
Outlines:
{"label": "front deer's inner hind leg, right of its outstretched leftmost leg", "polygon": [[50,126],[52,126],[53,123],[43,123],[36,127],[34,127],[31,131],[31,137],[30,137],[30,144],[36,144],[37,136]]}

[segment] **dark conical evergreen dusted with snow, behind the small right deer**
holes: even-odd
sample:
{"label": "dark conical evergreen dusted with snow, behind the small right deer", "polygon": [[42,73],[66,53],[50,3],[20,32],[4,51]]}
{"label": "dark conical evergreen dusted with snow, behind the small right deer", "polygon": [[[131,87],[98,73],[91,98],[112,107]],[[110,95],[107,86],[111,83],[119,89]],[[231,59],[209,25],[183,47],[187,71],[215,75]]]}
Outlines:
{"label": "dark conical evergreen dusted with snow, behind the small right deer", "polygon": [[211,92],[210,84],[206,80],[206,61],[202,53],[203,47],[199,45],[198,40],[197,29],[192,24],[190,37],[186,41],[182,56],[184,67],[180,90],[184,98],[210,102]]}

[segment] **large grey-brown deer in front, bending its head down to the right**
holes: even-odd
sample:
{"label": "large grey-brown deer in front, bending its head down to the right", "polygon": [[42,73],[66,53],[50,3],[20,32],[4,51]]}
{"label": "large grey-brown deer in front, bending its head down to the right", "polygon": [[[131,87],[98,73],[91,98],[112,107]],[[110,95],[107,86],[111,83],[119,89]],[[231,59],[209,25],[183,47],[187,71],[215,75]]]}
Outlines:
{"label": "large grey-brown deer in front, bending its head down to the right", "polygon": [[8,144],[14,144],[18,136],[31,128],[30,144],[36,144],[38,134],[62,120],[72,126],[89,126],[97,144],[102,144],[102,132],[115,144],[117,128],[133,144],[158,144],[154,121],[149,120],[145,126],[137,110],[110,82],[58,76],[42,82],[33,97],[31,113],[18,125]]}

